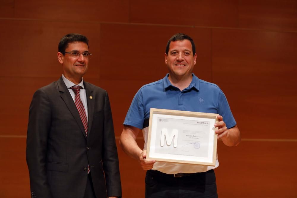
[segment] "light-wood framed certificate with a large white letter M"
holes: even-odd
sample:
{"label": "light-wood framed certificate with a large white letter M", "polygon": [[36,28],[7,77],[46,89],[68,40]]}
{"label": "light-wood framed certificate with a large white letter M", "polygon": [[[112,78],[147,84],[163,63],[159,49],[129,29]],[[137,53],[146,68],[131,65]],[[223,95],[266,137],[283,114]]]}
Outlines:
{"label": "light-wood framed certificate with a large white letter M", "polygon": [[146,159],[215,166],[217,115],[151,108]]}

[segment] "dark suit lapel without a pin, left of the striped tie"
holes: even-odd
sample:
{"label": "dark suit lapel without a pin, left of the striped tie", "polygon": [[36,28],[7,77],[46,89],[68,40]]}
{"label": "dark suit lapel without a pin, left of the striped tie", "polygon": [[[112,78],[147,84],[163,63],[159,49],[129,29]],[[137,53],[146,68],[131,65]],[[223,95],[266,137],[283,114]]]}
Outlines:
{"label": "dark suit lapel without a pin, left of the striped tie", "polygon": [[75,106],[75,103],[73,102],[73,99],[63,81],[63,78],[61,77],[58,81],[57,81],[57,84],[58,84],[58,88],[59,88],[59,91],[60,91],[60,95],[61,95],[61,98],[64,100],[65,104],[67,105],[69,111],[71,112],[71,114],[73,115],[75,121],[77,122],[81,132],[83,133],[83,136],[85,138],[86,137],[86,132],[85,132],[85,129],[83,128],[83,123],[80,119],[80,116],[79,116],[79,113],[78,113],[78,110]]}

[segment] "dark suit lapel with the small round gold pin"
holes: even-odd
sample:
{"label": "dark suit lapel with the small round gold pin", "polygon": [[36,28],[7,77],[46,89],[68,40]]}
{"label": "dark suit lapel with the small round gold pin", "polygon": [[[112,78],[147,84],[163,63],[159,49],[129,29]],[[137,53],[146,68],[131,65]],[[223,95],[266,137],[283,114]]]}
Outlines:
{"label": "dark suit lapel with the small round gold pin", "polygon": [[91,133],[93,115],[94,115],[94,106],[95,106],[95,96],[93,96],[93,89],[87,82],[83,82],[83,85],[86,89],[87,96],[87,105],[88,105],[88,135]]}

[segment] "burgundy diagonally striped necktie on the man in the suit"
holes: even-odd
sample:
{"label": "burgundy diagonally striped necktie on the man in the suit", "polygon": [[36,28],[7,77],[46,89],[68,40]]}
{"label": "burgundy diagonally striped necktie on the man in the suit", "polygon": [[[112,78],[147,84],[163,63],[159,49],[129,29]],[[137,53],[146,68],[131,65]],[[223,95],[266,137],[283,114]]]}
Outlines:
{"label": "burgundy diagonally striped necktie on the man in the suit", "polygon": [[[78,110],[79,116],[81,121],[83,122],[83,128],[85,129],[86,132],[86,136],[88,137],[88,120],[87,120],[87,115],[85,112],[85,108],[83,107],[83,102],[81,102],[80,99],[80,95],[79,95],[79,91],[80,89],[82,89],[81,86],[72,86],[70,87],[70,89],[72,89],[75,93],[75,97],[74,97],[74,102],[75,102],[75,106]],[[90,173],[90,167],[88,165],[88,174]]]}

